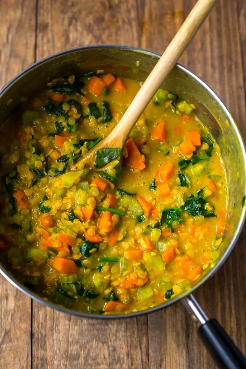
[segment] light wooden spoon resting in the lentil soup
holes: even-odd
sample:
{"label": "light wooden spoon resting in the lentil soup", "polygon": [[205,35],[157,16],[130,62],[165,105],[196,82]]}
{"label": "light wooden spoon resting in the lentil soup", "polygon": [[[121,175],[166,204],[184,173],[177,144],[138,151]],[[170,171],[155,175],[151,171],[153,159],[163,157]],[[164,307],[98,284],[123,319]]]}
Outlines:
{"label": "light wooden spoon resting in the lentil soup", "polygon": [[183,54],[183,51],[186,49],[191,39],[193,39],[216,1],[217,0],[197,1],[181,28],[176,33],[169,46],[167,46],[152,72],[149,74],[132,100],[119,123],[107,137],[94,146],[88,154],[84,155],[83,158],[77,161],[77,163],[72,167],[73,170],[76,170],[77,165],[81,162],[84,163],[85,166],[93,168],[95,154],[98,149],[122,148],[124,146],[129,133],[136,124],[136,121],[149,104],[166,76],[175,66],[177,60],[181,54]]}

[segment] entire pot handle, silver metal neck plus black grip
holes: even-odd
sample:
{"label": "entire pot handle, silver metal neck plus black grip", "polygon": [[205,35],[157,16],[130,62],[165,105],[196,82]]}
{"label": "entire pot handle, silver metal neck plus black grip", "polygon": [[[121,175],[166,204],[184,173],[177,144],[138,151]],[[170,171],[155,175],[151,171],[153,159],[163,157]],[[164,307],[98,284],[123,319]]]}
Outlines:
{"label": "entire pot handle, silver metal neck plus black grip", "polygon": [[215,319],[208,319],[193,295],[183,305],[199,324],[198,335],[220,369],[245,369],[246,359]]}

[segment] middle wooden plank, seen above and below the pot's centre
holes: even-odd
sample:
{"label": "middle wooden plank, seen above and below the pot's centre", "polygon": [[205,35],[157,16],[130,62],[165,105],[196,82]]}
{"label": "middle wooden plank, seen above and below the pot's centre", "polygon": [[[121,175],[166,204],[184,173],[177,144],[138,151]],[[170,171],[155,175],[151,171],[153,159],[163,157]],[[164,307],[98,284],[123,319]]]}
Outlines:
{"label": "middle wooden plank, seen above and below the pot's centre", "polygon": [[[138,45],[135,18],[135,1],[96,1],[92,10],[88,1],[39,0],[37,58],[87,44]],[[34,301],[33,368],[147,369],[147,329],[146,315],[82,319]]]}

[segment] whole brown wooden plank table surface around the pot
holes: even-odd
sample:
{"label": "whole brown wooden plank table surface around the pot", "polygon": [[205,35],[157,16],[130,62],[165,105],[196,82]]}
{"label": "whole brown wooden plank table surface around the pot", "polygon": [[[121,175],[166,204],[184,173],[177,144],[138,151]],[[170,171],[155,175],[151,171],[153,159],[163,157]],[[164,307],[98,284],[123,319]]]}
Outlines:
{"label": "whole brown wooden plank table surface around the pot", "polygon": [[[77,46],[124,44],[162,53],[194,3],[1,0],[0,87],[35,61]],[[245,13],[245,1],[219,0],[180,59],[218,93],[244,138]],[[241,349],[246,347],[245,234],[194,294]],[[0,296],[0,368],[215,368],[181,303],[138,318],[100,321],[45,307],[3,277]]]}

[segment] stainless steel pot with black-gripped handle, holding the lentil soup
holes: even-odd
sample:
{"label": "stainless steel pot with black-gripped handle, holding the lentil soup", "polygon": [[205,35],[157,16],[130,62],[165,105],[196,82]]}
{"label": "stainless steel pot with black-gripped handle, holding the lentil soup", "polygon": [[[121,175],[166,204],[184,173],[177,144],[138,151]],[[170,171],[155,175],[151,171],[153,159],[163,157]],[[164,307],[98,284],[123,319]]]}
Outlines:
{"label": "stainless steel pot with black-gripped handle, holding the lentil soup", "polygon": [[[81,73],[84,70],[103,69],[105,72],[143,81],[153,69],[160,55],[143,49],[120,45],[94,45],[71,49],[49,56],[11,80],[0,92],[1,123],[20,106],[23,97],[33,96],[54,77],[67,73]],[[138,65],[136,66],[136,61]],[[8,270],[0,265],[1,274],[15,287],[49,307],[65,313],[82,317],[122,318],[150,313],[167,307],[182,299],[197,323],[198,332],[214,356],[217,364],[225,368],[246,368],[243,355],[229,339],[223,328],[215,320],[209,320],[195,301],[191,293],[210,278],[224,263],[235,245],[245,219],[246,207],[242,209],[242,199],[246,193],[246,152],[238,127],[229,111],[215,94],[198,76],[181,65],[176,65],[166,78],[162,88],[177,92],[181,99],[194,103],[196,115],[204,122],[219,144],[225,163],[229,183],[229,211],[225,234],[220,246],[221,256],[210,265],[202,276],[191,284],[190,288],[166,303],[144,311],[120,315],[87,314],[62,308],[31,292],[18,282]],[[240,175],[239,175],[240,173]]]}

